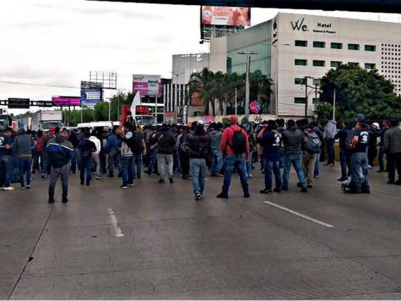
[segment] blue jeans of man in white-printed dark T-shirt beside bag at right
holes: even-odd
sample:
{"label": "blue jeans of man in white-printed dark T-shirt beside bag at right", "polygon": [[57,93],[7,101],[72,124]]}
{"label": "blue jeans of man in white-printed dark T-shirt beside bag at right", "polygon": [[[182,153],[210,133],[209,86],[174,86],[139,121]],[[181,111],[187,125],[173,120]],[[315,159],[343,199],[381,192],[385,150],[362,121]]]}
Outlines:
{"label": "blue jeans of man in white-printed dark T-shirt beside bag at right", "polygon": [[364,190],[369,190],[366,153],[355,153],[351,155],[351,184],[352,189],[356,192],[361,192],[362,184]]}

